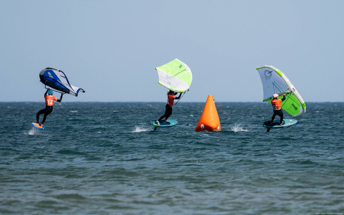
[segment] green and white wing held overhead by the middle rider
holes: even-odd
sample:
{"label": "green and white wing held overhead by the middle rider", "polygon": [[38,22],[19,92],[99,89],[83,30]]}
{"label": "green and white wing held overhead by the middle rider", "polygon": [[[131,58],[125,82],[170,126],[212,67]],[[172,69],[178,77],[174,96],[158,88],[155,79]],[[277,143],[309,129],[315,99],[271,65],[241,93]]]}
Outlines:
{"label": "green and white wing held overhead by the middle rider", "polygon": [[155,68],[159,74],[159,84],[172,90],[183,93],[190,88],[192,73],[185,63],[178,59]]}

